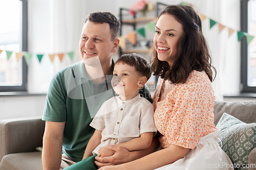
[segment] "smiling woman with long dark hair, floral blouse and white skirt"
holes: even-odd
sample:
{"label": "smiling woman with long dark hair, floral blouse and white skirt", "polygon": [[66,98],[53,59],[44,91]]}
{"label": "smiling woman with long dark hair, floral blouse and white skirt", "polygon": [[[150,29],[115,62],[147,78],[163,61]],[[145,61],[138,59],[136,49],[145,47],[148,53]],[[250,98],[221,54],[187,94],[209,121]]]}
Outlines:
{"label": "smiling woman with long dark hair, floral blouse and white skirt", "polygon": [[193,8],[178,5],[166,7],[158,18],[152,67],[159,80],[153,105],[162,149],[100,169],[232,169],[218,144],[211,58],[200,17]]}

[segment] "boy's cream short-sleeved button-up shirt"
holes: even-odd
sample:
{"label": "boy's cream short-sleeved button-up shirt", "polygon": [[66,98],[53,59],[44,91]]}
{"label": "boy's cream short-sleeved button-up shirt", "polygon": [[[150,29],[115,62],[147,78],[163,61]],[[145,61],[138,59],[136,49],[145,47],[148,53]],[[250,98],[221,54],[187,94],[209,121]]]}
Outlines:
{"label": "boy's cream short-sleeved button-up shirt", "polygon": [[139,94],[127,101],[119,96],[105,101],[90,124],[102,131],[101,143],[93,154],[109,144],[129,141],[140,137],[141,133],[157,132],[153,114],[153,105]]}

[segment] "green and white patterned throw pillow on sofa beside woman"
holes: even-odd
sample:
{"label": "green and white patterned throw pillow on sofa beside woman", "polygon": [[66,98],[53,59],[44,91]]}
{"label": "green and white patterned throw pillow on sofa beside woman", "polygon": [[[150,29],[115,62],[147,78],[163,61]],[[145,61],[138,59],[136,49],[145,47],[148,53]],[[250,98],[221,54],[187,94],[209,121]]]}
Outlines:
{"label": "green and white patterned throw pillow on sofa beside woman", "polygon": [[236,167],[248,164],[249,153],[256,147],[256,123],[246,124],[223,113],[216,127],[221,131],[222,149],[233,164]]}

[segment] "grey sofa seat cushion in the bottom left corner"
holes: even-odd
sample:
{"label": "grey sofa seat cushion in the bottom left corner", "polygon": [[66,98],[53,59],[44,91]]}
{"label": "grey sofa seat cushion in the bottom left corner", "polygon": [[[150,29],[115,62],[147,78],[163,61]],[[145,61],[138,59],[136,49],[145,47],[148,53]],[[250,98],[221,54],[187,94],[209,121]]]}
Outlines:
{"label": "grey sofa seat cushion in the bottom left corner", "polygon": [[41,152],[9,154],[3,157],[0,170],[42,170]]}

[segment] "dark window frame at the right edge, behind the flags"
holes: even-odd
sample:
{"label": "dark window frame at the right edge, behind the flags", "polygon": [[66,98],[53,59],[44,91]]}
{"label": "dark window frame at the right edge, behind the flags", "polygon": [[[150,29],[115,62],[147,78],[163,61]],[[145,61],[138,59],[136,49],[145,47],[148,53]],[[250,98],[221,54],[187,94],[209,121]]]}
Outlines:
{"label": "dark window frame at the right edge, behind the flags", "polygon": [[[248,32],[248,2],[241,0],[241,31]],[[248,45],[246,36],[241,39],[241,92],[256,93],[256,87],[248,86]]]}

